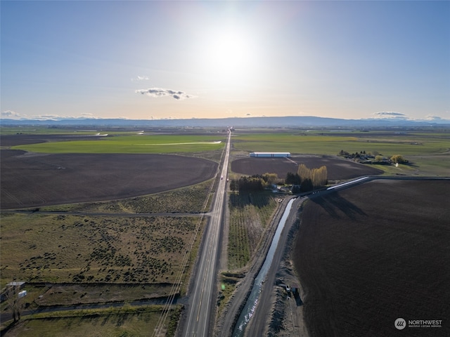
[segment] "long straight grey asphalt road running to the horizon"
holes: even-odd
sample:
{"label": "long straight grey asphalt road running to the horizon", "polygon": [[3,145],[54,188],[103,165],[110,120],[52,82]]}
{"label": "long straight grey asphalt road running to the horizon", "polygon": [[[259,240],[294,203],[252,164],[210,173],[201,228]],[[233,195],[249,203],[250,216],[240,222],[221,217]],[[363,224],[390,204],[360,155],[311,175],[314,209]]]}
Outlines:
{"label": "long straight grey asphalt road running to the horizon", "polygon": [[212,312],[216,298],[217,260],[219,256],[219,234],[222,227],[222,215],[226,202],[226,176],[229,165],[230,136],[226,143],[221,179],[214,199],[214,206],[210,213],[210,222],[205,232],[201,255],[196,268],[195,280],[189,293],[189,304],[186,311],[186,323],[183,336],[203,337],[211,336]]}

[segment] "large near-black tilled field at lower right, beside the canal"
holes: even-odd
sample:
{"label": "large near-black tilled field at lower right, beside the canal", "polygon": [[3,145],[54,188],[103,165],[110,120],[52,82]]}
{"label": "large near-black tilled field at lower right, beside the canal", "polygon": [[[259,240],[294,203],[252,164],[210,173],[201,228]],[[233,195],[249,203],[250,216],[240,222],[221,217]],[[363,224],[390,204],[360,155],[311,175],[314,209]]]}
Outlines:
{"label": "large near-black tilled field at lower right, beside the canal", "polygon": [[294,262],[310,336],[450,336],[449,200],[450,181],[375,180],[308,201]]}

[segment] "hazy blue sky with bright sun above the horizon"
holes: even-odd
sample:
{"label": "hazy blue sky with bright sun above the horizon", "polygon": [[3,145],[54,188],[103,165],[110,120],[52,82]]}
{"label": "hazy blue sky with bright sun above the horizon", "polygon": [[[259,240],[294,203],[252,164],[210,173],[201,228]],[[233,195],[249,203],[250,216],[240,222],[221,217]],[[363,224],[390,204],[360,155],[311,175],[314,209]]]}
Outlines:
{"label": "hazy blue sky with bright sun above the horizon", "polygon": [[1,118],[450,119],[450,1],[0,1]]}

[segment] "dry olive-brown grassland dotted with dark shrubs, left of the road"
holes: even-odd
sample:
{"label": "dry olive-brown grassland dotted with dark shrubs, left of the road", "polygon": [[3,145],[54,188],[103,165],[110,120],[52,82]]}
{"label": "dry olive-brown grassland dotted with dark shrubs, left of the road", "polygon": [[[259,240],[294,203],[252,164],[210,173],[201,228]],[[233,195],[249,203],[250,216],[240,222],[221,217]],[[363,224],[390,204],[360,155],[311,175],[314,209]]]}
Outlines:
{"label": "dry olive-brown grassland dotted with dark shrubs, left of the road", "polygon": [[2,214],[1,277],[172,284],[203,225],[198,217]]}

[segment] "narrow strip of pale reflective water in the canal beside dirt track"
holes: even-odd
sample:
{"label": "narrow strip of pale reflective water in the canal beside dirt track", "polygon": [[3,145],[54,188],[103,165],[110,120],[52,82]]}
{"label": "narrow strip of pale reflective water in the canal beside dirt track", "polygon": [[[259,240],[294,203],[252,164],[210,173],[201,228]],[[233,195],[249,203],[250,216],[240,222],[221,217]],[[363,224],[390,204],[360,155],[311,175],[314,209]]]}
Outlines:
{"label": "narrow strip of pale reflective water in the canal beside dirt track", "polygon": [[278,246],[278,241],[280,239],[281,232],[283,231],[286,220],[288,219],[290,209],[293,206],[293,202],[294,199],[290,199],[288,206],[286,206],[286,209],[283,213],[283,217],[281,218],[280,223],[278,223],[274,239],[272,240],[269,252],[267,253],[266,256],[266,260],[264,260],[264,264],[262,265],[261,270],[259,270],[259,273],[255,279],[255,284],[253,284],[252,292],[250,293],[250,296],[248,297],[247,302],[245,303],[245,307],[240,312],[238,322],[236,322],[236,326],[234,327],[233,337],[244,336],[245,327],[247,326],[248,322],[250,322],[250,319],[252,318],[255,312],[255,309],[258,305],[259,294],[261,293],[262,282],[264,282],[264,279],[266,279],[266,274],[267,272],[269,272],[272,260],[274,260],[274,253],[276,251],[276,246]]}

